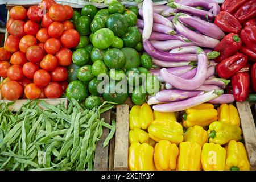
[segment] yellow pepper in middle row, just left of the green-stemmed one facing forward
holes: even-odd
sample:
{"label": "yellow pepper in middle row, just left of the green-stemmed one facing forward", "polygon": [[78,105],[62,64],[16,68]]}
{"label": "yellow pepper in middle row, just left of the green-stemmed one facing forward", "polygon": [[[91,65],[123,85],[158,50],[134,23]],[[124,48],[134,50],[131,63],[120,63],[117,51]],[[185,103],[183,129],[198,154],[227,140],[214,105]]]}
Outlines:
{"label": "yellow pepper in middle row, just left of the green-stemmed one facing forward", "polygon": [[208,141],[207,131],[201,126],[189,127],[184,135],[184,142],[196,142],[203,147],[203,144]]}

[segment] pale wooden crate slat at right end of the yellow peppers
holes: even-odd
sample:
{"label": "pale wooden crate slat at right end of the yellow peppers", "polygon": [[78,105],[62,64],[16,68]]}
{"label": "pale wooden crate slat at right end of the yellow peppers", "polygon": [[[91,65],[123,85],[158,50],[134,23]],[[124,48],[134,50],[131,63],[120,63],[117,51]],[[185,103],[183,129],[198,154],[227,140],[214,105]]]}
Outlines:
{"label": "pale wooden crate slat at right end of the yellow peppers", "polygon": [[236,102],[240,115],[245,147],[251,164],[251,169],[256,170],[256,128],[251,114],[249,102]]}

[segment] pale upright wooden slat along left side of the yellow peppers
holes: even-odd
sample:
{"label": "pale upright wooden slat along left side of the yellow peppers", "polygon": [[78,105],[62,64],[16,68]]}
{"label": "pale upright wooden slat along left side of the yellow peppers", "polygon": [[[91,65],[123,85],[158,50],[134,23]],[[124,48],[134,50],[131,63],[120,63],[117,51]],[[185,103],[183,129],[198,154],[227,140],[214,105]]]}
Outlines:
{"label": "pale upright wooden slat along left side of the yellow peppers", "polygon": [[117,105],[114,170],[128,170],[129,105]]}

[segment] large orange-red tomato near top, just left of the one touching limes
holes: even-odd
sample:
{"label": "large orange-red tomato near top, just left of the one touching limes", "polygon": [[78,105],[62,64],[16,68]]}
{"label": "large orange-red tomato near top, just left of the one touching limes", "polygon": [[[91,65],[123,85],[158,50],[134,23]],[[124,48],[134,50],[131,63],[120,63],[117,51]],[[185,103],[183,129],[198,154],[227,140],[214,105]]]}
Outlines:
{"label": "large orange-red tomato near top, just left of the one touching limes", "polygon": [[63,22],[67,19],[67,11],[63,5],[54,4],[49,8],[49,16],[55,22]]}

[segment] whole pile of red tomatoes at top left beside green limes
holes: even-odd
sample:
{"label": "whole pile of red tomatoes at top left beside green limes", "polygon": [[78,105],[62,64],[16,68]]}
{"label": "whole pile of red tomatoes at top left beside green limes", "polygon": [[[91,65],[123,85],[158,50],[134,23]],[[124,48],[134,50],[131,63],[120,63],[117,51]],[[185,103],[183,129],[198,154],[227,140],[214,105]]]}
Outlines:
{"label": "whole pile of red tomatoes at top left beside green limes", "polygon": [[79,33],[68,19],[73,9],[43,0],[38,6],[14,6],[6,23],[10,36],[0,48],[1,94],[7,100],[59,98],[68,82],[71,49]]}

